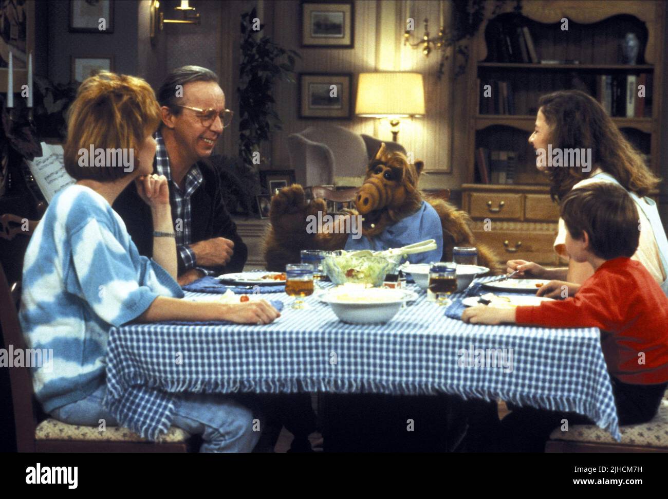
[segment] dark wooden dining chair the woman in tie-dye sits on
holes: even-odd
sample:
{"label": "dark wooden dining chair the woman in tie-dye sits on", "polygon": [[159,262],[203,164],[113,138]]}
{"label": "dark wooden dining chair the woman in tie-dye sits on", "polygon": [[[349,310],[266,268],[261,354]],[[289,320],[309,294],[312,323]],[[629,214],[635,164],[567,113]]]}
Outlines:
{"label": "dark wooden dining chair the woman in tie-dye sits on", "polygon": [[[0,266],[0,327],[5,348],[14,351],[26,345],[21,333],[17,309],[20,283],[11,288]],[[159,443],[144,440],[127,428],[65,424],[49,418],[35,399],[29,367],[9,368],[17,450],[19,452],[188,452],[194,450],[190,435],[180,428],[170,428]]]}

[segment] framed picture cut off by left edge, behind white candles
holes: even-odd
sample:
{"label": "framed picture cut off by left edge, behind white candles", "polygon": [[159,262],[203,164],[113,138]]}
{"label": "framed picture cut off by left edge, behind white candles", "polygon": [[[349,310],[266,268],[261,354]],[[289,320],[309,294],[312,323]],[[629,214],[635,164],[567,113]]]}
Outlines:
{"label": "framed picture cut off by left edge, behind white candles", "polygon": [[0,1],[0,92],[7,92],[9,53],[13,65],[13,90],[21,92],[28,81],[28,54],[35,64],[35,2]]}

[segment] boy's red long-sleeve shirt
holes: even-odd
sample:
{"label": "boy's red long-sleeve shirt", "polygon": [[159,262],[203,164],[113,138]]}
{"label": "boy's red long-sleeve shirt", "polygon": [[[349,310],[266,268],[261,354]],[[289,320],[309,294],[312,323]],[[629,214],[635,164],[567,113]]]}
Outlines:
{"label": "boy's red long-sleeve shirt", "polygon": [[611,375],[636,385],[668,381],[668,297],[639,261],[609,260],[574,297],[517,307],[515,318],[526,325],[598,327]]}

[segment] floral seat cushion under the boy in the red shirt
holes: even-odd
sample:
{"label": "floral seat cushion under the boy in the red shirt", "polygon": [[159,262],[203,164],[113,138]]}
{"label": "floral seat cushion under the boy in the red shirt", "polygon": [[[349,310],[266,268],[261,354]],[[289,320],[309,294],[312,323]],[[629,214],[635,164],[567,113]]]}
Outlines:
{"label": "floral seat cushion under the boy in the red shirt", "polygon": [[664,397],[655,418],[643,424],[620,426],[621,442],[596,425],[576,425],[562,432],[556,428],[550,440],[568,440],[570,442],[593,442],[595,444],[621,444],[628,446],[652,446],[668,448],[668,399]]}

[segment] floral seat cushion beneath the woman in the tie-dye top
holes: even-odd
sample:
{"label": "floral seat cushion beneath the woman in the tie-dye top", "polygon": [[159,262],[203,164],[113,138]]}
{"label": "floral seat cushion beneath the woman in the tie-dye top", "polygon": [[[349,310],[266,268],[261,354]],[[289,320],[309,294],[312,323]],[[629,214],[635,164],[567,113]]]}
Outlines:
{"label": "floral seat cushion beneath the woman in the tie-dye top", "polygon": [[[177,444],[190,438],[188,432],[181,428],[172,428],[164,434],[161,444]],[[87,442],[148,442],[128,428],[109,426],[100,431],[97,426],[79,426],[48,419],[37,425],[36,440],[86,440]]]}

